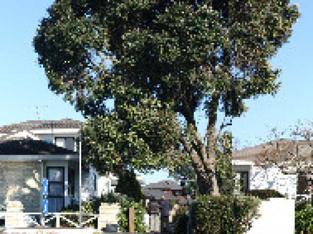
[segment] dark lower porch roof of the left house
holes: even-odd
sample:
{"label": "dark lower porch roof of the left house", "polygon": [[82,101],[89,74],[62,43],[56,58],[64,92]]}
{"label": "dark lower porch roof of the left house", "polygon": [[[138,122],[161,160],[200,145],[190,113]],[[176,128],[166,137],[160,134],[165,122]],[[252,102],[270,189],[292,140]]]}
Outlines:
{"label": "dark lower porch roof of the left house", "polygon": [[58,147],[42,140],[16,138],[0,142],[1,155],[70,155],[77,154],[71,150]]}

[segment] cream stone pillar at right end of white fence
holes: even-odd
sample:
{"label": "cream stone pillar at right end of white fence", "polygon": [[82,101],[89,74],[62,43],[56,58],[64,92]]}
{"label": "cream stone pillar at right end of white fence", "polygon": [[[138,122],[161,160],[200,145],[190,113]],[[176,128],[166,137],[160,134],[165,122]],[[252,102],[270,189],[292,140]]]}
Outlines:
{"label": "cream stone pillar at right end of white fence", "polygon": [[99,207],[98,230],[106,228],[107,224],[118,224],[117,214],[121,212],[118,203],[101,203]]}

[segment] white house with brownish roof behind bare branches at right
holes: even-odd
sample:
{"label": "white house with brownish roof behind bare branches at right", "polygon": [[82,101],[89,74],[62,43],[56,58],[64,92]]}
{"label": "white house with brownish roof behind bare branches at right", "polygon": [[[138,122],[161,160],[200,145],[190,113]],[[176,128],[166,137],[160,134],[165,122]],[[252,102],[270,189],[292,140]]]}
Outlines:
{"label": "white house with brownish roof behind bare branches at right", "polygon": [[232,169],[241,191],[276,190],[288,198],[311,198],[313,142],[277,139],[236,150],[232,153]]}

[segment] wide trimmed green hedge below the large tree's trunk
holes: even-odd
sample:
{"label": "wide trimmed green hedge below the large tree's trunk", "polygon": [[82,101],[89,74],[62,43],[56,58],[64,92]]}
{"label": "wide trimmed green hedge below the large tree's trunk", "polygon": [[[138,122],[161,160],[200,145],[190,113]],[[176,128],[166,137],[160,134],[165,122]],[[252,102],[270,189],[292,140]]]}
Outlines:
{"label": "wide trimmed green hedge below the large tree's trunk", "polygon": [[193,204],[194,233],[244,234],[257,217],[260,200],[252,196],[197,196]]}

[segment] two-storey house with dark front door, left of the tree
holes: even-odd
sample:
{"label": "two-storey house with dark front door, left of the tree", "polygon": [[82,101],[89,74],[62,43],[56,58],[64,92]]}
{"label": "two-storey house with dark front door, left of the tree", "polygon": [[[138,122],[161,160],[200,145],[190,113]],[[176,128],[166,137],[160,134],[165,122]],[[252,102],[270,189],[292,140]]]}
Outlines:
{"label": "two-storey house with dark front door, left of the tree", "polygon": [[[31,120],[0,127],[0,208],[19,201],[25,213],[60,212],[79,204],[79,137],[82,122]],[[83,155],[84,156],[84,155]],[[82,157],[83,157],[82,156]],[[115,191],[118,177],[82,167],[81,200]],[[139,179],[142,184],[144,181]],[[2,214],[2,216],[1,216]],[[0,219],[4,218],[3,213]]]}

